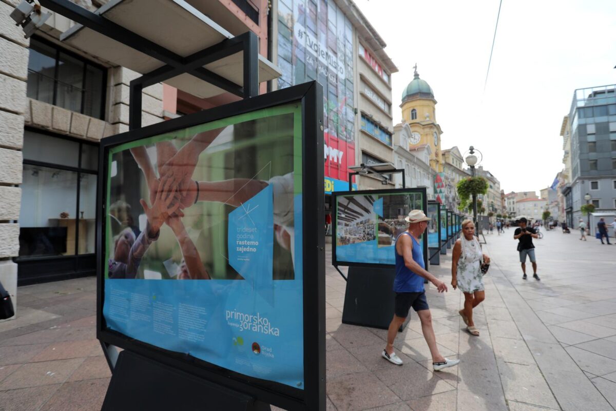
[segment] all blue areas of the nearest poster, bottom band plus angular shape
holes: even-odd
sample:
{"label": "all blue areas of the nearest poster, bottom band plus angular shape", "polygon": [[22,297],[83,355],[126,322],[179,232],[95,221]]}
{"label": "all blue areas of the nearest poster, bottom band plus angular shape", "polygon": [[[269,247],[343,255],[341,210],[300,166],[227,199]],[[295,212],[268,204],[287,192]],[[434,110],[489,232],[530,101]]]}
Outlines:
{"label": "all blue areas of the nearest poster, bottom band plus angular shape", "polygon": [[302,195],[293,201],[293,280],[272,280],[272,190],[264,189],[229,214],[229,264],[245,280],[106,279],[107,328],[304,389]]}

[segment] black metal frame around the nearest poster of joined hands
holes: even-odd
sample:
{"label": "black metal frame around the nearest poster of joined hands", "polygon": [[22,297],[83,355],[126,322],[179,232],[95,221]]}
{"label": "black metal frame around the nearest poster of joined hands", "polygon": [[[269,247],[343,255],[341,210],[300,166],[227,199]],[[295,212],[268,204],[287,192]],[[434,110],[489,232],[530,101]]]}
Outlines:
{"label": "black metal frame around the nearest poster of joined hands", "polygon": [[[102,317],[104,299],[104,261],[105,244],[105,190],[109,149],[118,144],[156,136],[177,129],[209,123],[229,116],[252,112],[262,108],[298,102],[302,107],[302,176],[303,192],[303,261],[304,261],[304,381],[303,390],[261,380],[226,368],[217,367],[195,357],[167,351],[150,344],[142,343],[121,333],[107,330]],[[99,152],[99,184],[97,197],[97,219],[102,222],[97,227],[97,338],[103,346],[113,345],[137,352],[155,361],[170,365],[179,370],[205,378],[240,393],[254,396],[267,404],[274,404],[288,410],[325,409],[325,228],[320,224],[323,214],[323,89],[316,81],[289,87],[264,94],[253,99],[240,100],[203,112],[182,116],[174,120],[153,124],[140,129],[124,132],[101,140]],[[317,159],[315,161],[314,159]],[[107,352],[108,362],[114,361],[113,352]]]}

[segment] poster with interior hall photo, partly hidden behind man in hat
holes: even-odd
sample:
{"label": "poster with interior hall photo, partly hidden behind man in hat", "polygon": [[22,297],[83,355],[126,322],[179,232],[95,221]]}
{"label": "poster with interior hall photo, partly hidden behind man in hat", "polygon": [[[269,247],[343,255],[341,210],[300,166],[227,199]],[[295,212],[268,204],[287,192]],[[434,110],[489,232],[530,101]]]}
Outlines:
{"label": "poster with interior hall photo, partly hidden behind man in hat", "polygon": [[421,192],[337,196],[336,261],[394,265],[395,240],[408,229],[405,217],[423,210],[423,201]]}

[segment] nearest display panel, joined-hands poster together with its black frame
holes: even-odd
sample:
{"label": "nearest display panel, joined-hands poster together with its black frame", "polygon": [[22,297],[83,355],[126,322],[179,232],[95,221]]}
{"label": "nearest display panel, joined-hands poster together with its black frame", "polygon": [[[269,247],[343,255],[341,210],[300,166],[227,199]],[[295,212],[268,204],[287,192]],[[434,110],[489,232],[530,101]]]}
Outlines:
{"label": "nearest display panel, joined-hands poster together with its black frame", "polygon": [[325,409],[322,94],[301,84],[102,140],[99,340]]}

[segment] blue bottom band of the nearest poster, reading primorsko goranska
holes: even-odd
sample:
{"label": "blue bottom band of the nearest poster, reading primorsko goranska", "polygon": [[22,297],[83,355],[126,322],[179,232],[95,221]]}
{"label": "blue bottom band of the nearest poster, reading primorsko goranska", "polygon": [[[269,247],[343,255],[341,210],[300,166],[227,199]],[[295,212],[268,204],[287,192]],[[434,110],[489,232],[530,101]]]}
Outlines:
{"label": "blue bottom band of the nearest poster, reading primorsko goranska", "polygon": [[144,343],[303,389],[299,287],[274,282],[270,304],[244,280],[106,280],[103,315]]}

